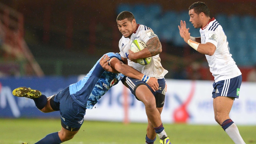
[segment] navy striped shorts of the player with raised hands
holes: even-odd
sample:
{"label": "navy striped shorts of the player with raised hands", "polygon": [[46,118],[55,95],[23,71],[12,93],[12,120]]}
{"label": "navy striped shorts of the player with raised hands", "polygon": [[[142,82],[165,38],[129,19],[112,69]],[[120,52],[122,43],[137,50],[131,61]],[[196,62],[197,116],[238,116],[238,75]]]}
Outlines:
{"label": "navy striped shorts of the player with raised hands", "polygon": [[227,96],[238,98],[241,83],[242,75],[213,83],[212,86],[214,89],[212,91],[212,97],[216,98],[218,96]]}

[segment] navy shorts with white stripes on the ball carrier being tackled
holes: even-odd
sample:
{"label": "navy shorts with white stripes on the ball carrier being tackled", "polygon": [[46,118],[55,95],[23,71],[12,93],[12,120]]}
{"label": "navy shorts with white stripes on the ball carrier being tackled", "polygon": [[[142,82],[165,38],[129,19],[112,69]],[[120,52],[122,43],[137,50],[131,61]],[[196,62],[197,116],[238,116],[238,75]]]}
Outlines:
{"label": "navy shorts with white stripes on the ball carrier being tackled", "polygon": [[[136,88],[140,85],[148,86],[148,84],[146,82],[144,82],[143,80],[133,79],[130,77],[126,77],[126,83],[129,86],[129,89],[132,92],[132,94],[135,95],[136,99],[138,99],[135,94]],[[165,79],[164,78],[158,79],[158,84],[159,84],[159,87],[158,87],[157,91],[153,91],[153,89],[150,88],[150,86],[148,86],[148,89],[155,96],[157,107],[163,107],[164,103],[165,103],[165,92],[166,92]]]}

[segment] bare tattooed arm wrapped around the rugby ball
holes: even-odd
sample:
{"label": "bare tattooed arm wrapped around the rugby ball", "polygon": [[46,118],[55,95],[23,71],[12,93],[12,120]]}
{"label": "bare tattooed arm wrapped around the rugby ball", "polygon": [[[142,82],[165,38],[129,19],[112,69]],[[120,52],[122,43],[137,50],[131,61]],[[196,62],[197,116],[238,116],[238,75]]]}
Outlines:
{"label": "bare tattooed arm wrapped around the rugby ball", "polygon": [[138,58],[148,58],[162,52],[162,45],[158,37],[153,37],[149,39],[146,44],[147,47],[137,53],[129,50],[129,59],[131,61],[135,61]]}

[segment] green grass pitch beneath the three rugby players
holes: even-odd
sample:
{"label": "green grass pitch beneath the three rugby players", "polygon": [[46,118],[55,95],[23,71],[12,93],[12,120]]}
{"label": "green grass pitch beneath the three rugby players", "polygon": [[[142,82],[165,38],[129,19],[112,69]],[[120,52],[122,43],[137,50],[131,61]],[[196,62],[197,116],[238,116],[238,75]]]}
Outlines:
{"label": "green grass pitch beneath the three rugby players", "polygon": [[[146,123],[84,121],[64,144],[145,144]],[[233,144],[218,125],[164,124],[172,144]],[[0,143],[34,144],[61,129],[60,119],[0,119]],[[256,126],[238,125],[246,144],[256,144]],[[159,138],[155,141],[159,144]]]}

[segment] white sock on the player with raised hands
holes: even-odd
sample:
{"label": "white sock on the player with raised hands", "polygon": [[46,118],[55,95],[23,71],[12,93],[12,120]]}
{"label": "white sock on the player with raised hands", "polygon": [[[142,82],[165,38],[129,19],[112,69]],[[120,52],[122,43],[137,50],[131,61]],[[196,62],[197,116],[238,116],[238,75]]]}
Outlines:
{"label": "white sock on the player with raised hands", "polygon": [[225,131],[228,134],[228,136],[235,142],[235,144],[245,144],[235,123],[227,127]]}

